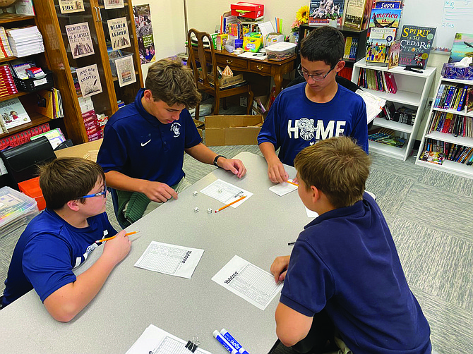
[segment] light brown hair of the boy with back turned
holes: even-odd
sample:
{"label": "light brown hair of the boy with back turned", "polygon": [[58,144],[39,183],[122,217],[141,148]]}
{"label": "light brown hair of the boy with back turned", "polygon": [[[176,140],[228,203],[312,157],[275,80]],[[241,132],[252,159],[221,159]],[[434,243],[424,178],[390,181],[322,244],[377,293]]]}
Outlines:
{"label": "light brown hair of the boy with back turned", "polygon": [[308,189],[321,190],[335,208],[363,199],[371,159],[351,138],[342,136],[306,147],[294,159],[299,178]]}

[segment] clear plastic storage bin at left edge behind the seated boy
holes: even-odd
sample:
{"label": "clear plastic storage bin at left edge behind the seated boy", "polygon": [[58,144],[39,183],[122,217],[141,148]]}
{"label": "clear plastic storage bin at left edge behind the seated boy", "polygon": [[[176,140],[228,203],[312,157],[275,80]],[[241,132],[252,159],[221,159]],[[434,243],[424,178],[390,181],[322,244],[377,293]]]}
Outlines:
{"label": "clear plastic storage bin at left edge behind the seated boy", "polygon": [[10,187],[0,188],[0,238],[26,225],[39,214],[36,201]]}

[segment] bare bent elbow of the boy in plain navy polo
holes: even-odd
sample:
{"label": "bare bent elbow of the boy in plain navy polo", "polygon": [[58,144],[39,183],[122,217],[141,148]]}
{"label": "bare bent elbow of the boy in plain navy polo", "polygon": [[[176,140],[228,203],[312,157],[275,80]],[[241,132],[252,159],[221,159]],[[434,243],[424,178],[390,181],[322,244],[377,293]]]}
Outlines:
{"label": "bare bent elbow of the boy in plain navy polo", "polygon": [[313,317],[302,315],[291,307],[279,303],[276,308],[276,334],[282,344],[294,346],[306,338],[312,326]]}

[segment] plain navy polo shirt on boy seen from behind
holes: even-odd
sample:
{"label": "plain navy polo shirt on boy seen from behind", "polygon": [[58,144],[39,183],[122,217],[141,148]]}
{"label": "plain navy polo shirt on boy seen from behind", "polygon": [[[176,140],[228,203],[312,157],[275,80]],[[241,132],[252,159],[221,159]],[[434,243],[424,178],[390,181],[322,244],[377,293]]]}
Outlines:
{"label": "plain navy polo shirt on boy seen from behind", "polygon": [[305,226],[280,301],[309,317],[325,308],[354,354],[431,353],[429,324],[381,209],[366,193]]}

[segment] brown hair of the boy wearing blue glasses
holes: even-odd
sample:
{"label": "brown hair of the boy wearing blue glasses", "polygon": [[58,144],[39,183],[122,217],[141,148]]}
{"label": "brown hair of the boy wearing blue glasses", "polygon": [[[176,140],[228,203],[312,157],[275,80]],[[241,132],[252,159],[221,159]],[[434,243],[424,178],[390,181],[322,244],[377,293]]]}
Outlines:
{"label": "brown hair of the boy wearing blue glasses", "polygon": [[40,166],[40,188],[48,209],[61,209],[70,200],[84,202],[97,181],[105,181],[102,167],[80,157],[59,157]]}

